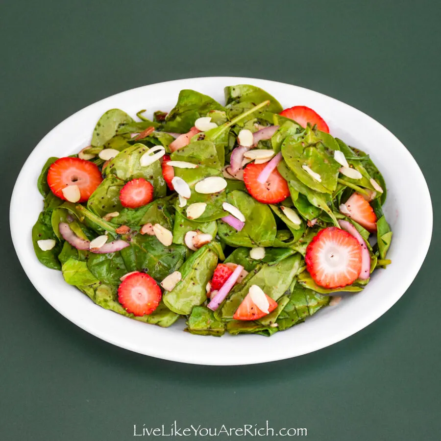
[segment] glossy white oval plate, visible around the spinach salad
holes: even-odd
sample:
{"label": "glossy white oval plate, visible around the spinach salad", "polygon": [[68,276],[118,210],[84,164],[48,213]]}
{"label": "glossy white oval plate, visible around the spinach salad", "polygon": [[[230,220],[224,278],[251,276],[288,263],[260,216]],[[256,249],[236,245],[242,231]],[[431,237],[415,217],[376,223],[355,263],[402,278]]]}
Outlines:
{"label": "glossy white oval plate, visible around the spinach salad", "polygon": [[[181,89],[195,89],[224,102],[223,87],[260,86],[283,107],[306,105],[329,124],[332,135],[368,152],[388,185],[384,207],[393,230],[387,270],[375,271],[368,287],[343,298],[305,323],[270,338],[241,335],[221,338],[186,332],[184,320],[170,328],[147,325],[95,305],[67,285],[61,272],[49,270],[35,257],[31,229],[42,209],[36,181],[49,156],[67,156],[90,144],[98,118],[121,108],[134,116],[140,109],[172,109]],[[412,203],[409,203],[412,201]],[[417,219],[417,222],[416,222]],[[190,78],[152,84],[105,98],[75,113],[51,130],[29,155],[17,179],[10,207],[12,240],[27,276],[41,295],[63,316],[109,343],[153,357],[200,365],[245,365],[295,357],[339,342],[384,314],[407,290],[426,256],[432,235],[432,205],[424,177],[392,133],[359,110],[290,84],[239,78]],[[418,227],[416,228],[416,223]]]}

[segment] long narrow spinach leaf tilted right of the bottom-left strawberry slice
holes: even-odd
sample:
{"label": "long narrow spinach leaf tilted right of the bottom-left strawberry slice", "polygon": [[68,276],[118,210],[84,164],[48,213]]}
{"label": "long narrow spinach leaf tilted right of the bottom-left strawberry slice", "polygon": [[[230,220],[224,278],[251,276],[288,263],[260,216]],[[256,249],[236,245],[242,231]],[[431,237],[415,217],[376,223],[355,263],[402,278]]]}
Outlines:
{"label": "long narrow spinach leaf tilted right of the bottom-left strawberry slice", "polygon": [[201,305],[207,299],[205,288],[217,264],[218,255],[210,246],[199,248],[179,269],[182,280],[164,293],[166,306],[177,314],[190,314],[194,306]]}

